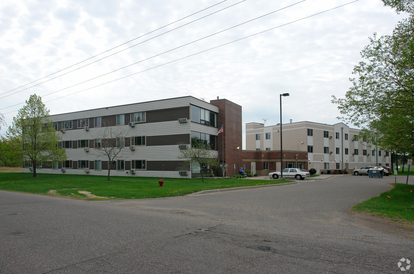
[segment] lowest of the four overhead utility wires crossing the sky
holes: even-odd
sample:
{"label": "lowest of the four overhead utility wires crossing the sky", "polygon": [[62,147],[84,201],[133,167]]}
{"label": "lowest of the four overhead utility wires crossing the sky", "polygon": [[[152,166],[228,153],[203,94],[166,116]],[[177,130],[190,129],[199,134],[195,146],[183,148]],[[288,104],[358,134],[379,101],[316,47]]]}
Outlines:
{"label": "lowest of the four overhead utility wires crossing the sky", "polygon": [[[243,40],[243,39],[250,38],[250,37],[256,36],[256,35],[258,35],[258,34],[265,33],[265,32],[267,32],[267,31],[271,31],[271,30],[273,30],[273,29],[280,28],[280,27],[282,27],[282,26],[286,26],[286,25],[289,25],[289,24],[293,24],[293,23],[295,23],[295,22],[298,22],[298,21],[301,21],[301,20],[304,20],[304,19],[307,19],[307,18],[310,18],[310,17],[316,16],[316,15],[319,15],[319,14],[322,14],[322,13],[325,13],[325,12],[328,12],[328,11],[331,11],[331,10],[335,10],[335,9],[337,9],[337,8],[339,8],[339,7],[344,7],[344,6],[346,6],[346,5],[352,4],[352,3],[357,2],[357,1],[359,1],[359,0],[355,0],[355,1],[352,1],[352,2],[348,2],[348,3],[344,4],[344,5],[340,5],[340,6],[337,6],[337,7],[332,8],[332,9],[325,10],[325,11],[323,11],[323,12],[318,12],[318,13],[315,13],[315,14],[309,15],[309,16],[307,16],[307,17],[303,17],[303,18],[301,18],[301,19],[297,19],[297,20],[295,20],[295,21],[291,21],[291,22],[289,22],[289,23],[282,24],[282,25],[276,26],[276,27],[271,28],[271,29],[267,29],[267,30],[265,30],[265,31],[260,31],[260,32],[258,32],[258,33],[255,33],[255,34],[252,34],[252,35],[249,35],[249,36],[245,36],[245,37],[243,37],[243,38],[239,38],[239,39],[233,40],[233,41],[231,41],[231,42],[221,44],[221,45],[219,45],[219,46],[215,46],[215,47],[212,47],[212,48],[209,48],[209,49],[206,49],[206,50],[202,50],[202,51],[200,51],[200,52],[198,52],[198,53],[194,53],[194,54],[191,54],[191,55],[187,55],[187,56],[185,56],[185,57],[178,58],[178,59],[176,59],[176,60],[173,60],[173,61],[170,61],[170,62],[166,62],[166,63],[161,64],[161,65],[157,65],[157,66],[154,66],[154,67],[150,67],[150,68],[148,68],[148,69],[146,69],[146,70],[142,70],[142,71],[140,71],[140,72],[135,72],[135,73],[133,73],[133,74],[126,75],[126,76],[124,76],[124,77],[121,77],[121,78],[118,78],[118,79],[114,79],[114,80],[112,80],[112,81],[109,81],[109,82],[106,82],[106,83],[103,83],[103,84],[96,85],[96,86],[94,86],[94,87],[90,87],[90,88],[87,88],[87,89],[83,89],[83,90],[81,90],[81,91],[77,91],[77,92],[74,92],[74,93],[72,93],[72,94],[67,94],[67,95],[65,95],[65,96],[61,96],[61,97],[58,97],[58,98],[55,98],[55,99],[52,99],[52,100],[46,101],[45,103],[48,103],[48,102],[51,102],[51,101],[54,101],[54,100],[57,100],[57,99],[61,99],[61,98],[64,98],[64,97],[67,97],[67,96],[70,96],[70,95],[73,95],[73,94],[77,94],[77,93],[82,92],[82,91],[86,91],[86,90],[89,90],[89,89],[94,89],[94,88],[96,88],[96,87],[100,87],[100,86],[103,86],[103,85],[105,85],[105,84],[109,84],[109,83],[112,83],[112,82],[118,81],[118,80],[120,80],[120,79],[124,79],[124,78],[126,78],[126,77],[130,77],[130,76],[132,76],[132,75],[136,75],[136,74],[141,73],[141,72],[146,72],[146,71],[148,71],[148,70],[152,70],[152,69],[154,69],[154,68],[161,67],[161,66],[163,66],[163,65],[168,65],[168,64],[171,64],[171,63],[173,63],[173,62],[176,62],[176,61],[179,61],[179,60],[183,60],[183,59],[185,59],[185,58],[189,58],[189,57],[192,57],[192,56],[194,56],[194,55],[197,55],[197,54],[200,54],[200,53],[207,52],[207,51],[209,51],[209,50],[213,50],[213,49],[219,48],[219,47],[221,47],[221,46],[226,46],[226,45],[229,45],[229,44],[231,44],[231,43],[234,43],[234,42],[237,42],[237,41],[241,41],[241,40]],[[55,91],[55,92],[56,92],[56,91]],[[24,103],[24,102],[23,102],[23,103]],[[17,106],[17,105],[20,105],[20,104],[22,104],[22,103],[15,104],[15,105],[13,105],[13,106]],[[7,107],[7,108],[10,108],[10,107],[12,107],[12,106],[9,106],[9,107]],[[5,108],[2,108],[2,109],[5,109]],[[0,110],[2,110],[2,109],[0,109]],[[16,110],[16,111],[17,111],[17,110]],[[10,112],[4,113],[4,114],[9,114],[9,113],[12,113],[12,112],[15,112],[15,111],[10,111]]]}

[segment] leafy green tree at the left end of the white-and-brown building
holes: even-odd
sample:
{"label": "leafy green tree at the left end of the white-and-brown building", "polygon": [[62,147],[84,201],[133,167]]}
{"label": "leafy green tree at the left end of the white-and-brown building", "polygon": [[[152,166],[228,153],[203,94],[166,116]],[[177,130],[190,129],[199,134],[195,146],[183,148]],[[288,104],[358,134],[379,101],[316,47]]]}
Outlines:
{"label": "leafy green tree at the left end of the white-and-brown building", "polygon": [[65,149],[58,148],[61,137],[49,119],[49,112],[41,97],[33,94],[13,117],[13,125],[6,132],[7,139],[14,144],[10,149],[23,156],[26,166],[33,166],[33,177],[40,164],[66,161]]}

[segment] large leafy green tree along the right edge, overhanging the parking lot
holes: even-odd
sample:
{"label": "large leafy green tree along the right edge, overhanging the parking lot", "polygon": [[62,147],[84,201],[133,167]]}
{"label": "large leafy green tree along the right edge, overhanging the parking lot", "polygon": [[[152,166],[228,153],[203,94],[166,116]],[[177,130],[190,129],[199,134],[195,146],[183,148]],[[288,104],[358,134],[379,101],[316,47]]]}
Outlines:
{"label": "large leafy green tree along the right edge, overhanging the parking lot", "polygon": [[[401,10],[411,1],[384,1]],[[387,3],[386,3],[387,4]],[[403,6],[401,6],[403,5]],[[344,98],[332,96],[343,120],[375,131],[378,146],[414,152],[414,17],[402,20],[392,35],[376,34],[361,51],[366,60],[354,67],[352,87]],[[373,133],[374,134],[374,133]]]}

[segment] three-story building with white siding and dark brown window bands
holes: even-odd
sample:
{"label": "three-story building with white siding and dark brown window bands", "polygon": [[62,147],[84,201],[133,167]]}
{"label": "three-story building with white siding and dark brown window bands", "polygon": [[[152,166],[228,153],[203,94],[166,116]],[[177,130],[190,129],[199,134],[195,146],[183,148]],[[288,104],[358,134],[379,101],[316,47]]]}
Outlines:
{"label": "three-story building with white siding and dark brown window bands", "polygon": [[[192,139],[209,143],[218,155],[218,112],[218,106],[185,96],[51,115],[67,161],[43,163],[37,172],[106,175],[109,164],[111,175],[190,178],[200,167],[183,168],[177,156]],[[106,127],[123,132],[117,146],[125,149],[111,162],[96,148]]]}

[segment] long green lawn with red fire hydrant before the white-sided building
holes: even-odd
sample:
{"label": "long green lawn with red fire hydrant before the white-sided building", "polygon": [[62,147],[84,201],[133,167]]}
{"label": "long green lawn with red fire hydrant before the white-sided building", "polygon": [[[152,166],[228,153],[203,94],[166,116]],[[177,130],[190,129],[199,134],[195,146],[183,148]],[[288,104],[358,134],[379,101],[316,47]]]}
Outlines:
{"label": "long green lawn with red fire hydrant before the white-sided building", "polygon": [[[87,195],[79,193],[79,191],[88,191],[92,195],[104,197],[101,199],[141,199],[180,196],[219,188],[289,182],[287,180],[220,178],[204,179],[203,183],[201,178],[164,178],[164,185],[160,187],[159,179],[161,178],[111,176],[108,181],[107,176],[44,173],[38,173],[37,178],[33,178],[32,173],[2,172],[0,173],[0,190],[60,195],[80,199],[86,199]],[[50,192],[51,190],[53,192]]]}

